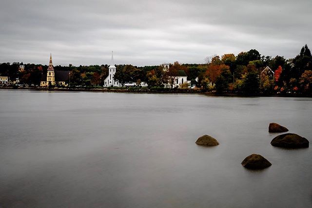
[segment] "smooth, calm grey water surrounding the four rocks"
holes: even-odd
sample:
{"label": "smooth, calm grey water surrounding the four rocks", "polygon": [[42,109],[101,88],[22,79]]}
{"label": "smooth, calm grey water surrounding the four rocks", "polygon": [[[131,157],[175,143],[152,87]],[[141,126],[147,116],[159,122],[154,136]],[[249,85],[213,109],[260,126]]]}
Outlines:
{"label": "smooth, calm grey water surrounding the four rocks", "polygon": [[0,90],[0,207],[312,207],[312,146],[270,122],[312,142],[312,99]]}

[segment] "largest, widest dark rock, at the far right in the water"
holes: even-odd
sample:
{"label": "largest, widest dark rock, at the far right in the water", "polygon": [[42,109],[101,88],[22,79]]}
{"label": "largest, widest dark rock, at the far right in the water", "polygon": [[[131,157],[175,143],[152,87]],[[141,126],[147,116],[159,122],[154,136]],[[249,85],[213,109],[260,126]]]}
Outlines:
{"label": "largest, widest dark rock, at the far right in the water", "polygon": [[275,137],[271,141],[271,145],[284,148],[305,148],[309,147],[309,141],[297,134],[287,133]]}

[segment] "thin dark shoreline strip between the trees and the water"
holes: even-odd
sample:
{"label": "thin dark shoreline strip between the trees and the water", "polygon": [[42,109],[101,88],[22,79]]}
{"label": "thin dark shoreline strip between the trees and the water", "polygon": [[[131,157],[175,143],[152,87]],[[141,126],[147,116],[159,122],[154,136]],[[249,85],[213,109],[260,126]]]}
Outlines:
{"label": "thin dark shoreline strip between the trees and the water", "polygon": [[41,88],[41,87],[0,87],[0,90],[34,90],[34,91],[55,91],[55,92],[113,92],[113,93],[137,93],[137,94],[201,94],[213,97],[294,97],[312,98],[311,95],[302,94],[254,94],[244,95],[241,93],[216,94],[213,91],[202,91],[194,89],[114,89],[114,88]]}

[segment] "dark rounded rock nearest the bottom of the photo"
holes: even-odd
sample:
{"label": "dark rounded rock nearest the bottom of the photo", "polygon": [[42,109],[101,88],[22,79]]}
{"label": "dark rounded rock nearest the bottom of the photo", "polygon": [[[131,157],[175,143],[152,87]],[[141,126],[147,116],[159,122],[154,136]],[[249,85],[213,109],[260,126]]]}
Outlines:
{"label": "dark rounded rock nearest the bottom of the photo", "polygon": [[248,169],[264,169],[272,166],[272,164],[261,155],[252,154],[243,160],[242,166]]}

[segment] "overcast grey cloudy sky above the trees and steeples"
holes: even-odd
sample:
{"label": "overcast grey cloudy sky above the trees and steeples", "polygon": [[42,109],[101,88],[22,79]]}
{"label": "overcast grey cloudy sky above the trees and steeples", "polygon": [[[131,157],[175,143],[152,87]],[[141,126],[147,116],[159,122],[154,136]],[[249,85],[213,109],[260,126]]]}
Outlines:
{"label": "overcast grey cloudy sky above the trees and steeples", "polygon": [[293,58],[312,47],[312,0],[0,0],[0,62],[203,63]]}

